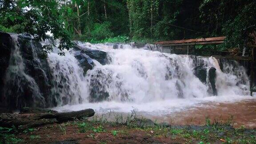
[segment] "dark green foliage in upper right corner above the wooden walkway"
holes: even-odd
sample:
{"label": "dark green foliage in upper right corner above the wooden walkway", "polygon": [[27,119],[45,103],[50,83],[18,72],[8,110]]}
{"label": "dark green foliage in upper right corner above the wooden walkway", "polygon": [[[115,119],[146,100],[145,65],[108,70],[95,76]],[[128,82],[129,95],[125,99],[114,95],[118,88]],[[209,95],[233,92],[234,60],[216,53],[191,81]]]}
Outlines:
{"label": "dark green foliage in upper right corner above the wooden walkway", "polygon": [[200,18],[212,36],[226,36],[226,48],[240,48],[252,43],[256,31],[255,0],[204,0]]}

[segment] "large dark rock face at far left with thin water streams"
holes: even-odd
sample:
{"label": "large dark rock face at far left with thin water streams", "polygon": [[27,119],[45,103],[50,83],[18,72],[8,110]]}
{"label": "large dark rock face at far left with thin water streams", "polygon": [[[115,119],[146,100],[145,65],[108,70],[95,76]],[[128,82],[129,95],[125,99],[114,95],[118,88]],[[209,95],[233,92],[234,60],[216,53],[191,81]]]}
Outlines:
{"label": "large dark rock face at far left with thin water streams", "polygon": [[51,96],[50,70],[40,42],[27,33],[2,32],[0,41],[3,41],[0,59],[4,59],[0,60],[0,94],[4,98],[1,101],[9,109],[56,106]]}

